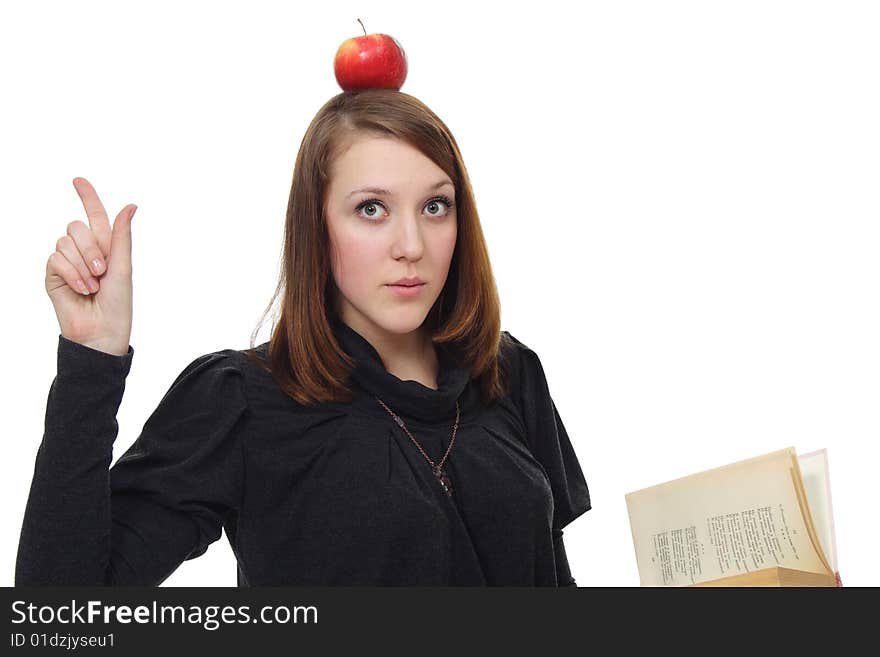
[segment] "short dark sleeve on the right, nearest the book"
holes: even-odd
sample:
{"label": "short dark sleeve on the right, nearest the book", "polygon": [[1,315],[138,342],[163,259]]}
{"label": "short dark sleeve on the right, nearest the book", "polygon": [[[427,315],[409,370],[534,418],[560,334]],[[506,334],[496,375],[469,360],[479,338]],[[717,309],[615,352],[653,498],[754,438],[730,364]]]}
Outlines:
{"label": "short dark sleeve on the right, nearest the book", "polygon": [[590,492],[538,355],[507,331],[504,335],[513,365],[511,393],[522,412],[532,454],[543,465],[553,490],[555,532],[591,508]]}

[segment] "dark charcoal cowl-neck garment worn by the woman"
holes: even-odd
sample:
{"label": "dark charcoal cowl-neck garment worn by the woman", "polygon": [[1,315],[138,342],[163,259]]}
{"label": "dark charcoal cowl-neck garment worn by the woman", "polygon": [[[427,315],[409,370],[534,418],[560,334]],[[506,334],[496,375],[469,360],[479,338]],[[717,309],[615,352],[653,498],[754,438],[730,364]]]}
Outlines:
{"label": "dark charcoal cowl-neck garment worn by the woman", "polygon": [[[486,408],[444,348],[433,390],[333,327],[358,361],[352,403],[304,406],[240,351],[205,354],[112,468],[134,350],[59,335],[16,585],[158,585],[221,528],[239,586],[574,585],[562,529],[590,496],[535,352],[504,333],[511,391]],[[459,400],[452,496],[376,396],[435,463]]]}

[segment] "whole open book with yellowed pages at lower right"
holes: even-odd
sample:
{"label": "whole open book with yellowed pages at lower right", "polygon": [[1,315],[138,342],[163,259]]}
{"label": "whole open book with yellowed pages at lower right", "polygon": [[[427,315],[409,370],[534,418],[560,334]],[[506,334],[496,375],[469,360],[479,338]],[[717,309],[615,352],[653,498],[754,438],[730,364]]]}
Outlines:
{"label": "whole open book with yellowed pages at lower right", "polygon": [[642,586],[840,586],[828,455],[793,447],[626,495]]}

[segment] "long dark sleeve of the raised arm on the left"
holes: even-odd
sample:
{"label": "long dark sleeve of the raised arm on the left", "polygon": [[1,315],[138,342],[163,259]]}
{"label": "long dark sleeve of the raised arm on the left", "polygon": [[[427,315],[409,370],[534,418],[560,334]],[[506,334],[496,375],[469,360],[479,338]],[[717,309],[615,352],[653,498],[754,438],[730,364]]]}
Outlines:
{"label": "long dark sleeve of the raised arm on the left", "polygon": [[21,585],[161,584],[205,552],[241,493],[247,403],[229,352],[178,375],[110,468],[134,350],[114,356],[59,336],[15,569]]}

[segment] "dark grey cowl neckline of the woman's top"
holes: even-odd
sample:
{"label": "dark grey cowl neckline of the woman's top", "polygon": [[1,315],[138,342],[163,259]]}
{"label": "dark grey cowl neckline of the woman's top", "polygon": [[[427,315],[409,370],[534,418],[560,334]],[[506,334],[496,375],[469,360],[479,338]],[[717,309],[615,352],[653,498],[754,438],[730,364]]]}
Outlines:
{"label": "dark grey cowl neckline of the woman's top", "polygon": [[[376,348],[360,333],[339,319],[330,326],[345,352],[355,360],[352,380],[370,397],[378,397],[396,414],[422,422],[449,421],[455,418],[455,402],[462,397],[470,372],[460,367],[446,345],[437,344],[439,372],[437,389],[414,380],[402,380],[385,369]],[[382,411],[373,399],[377,409]],[[465,401],[460,401],[464,412]],[[382,411],[384,412],[384,411]]]}

